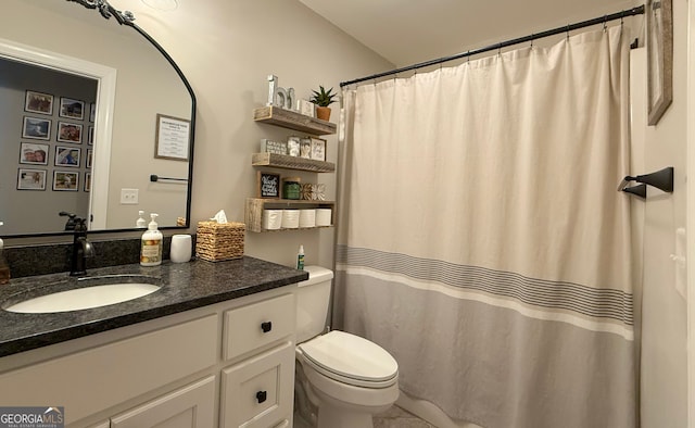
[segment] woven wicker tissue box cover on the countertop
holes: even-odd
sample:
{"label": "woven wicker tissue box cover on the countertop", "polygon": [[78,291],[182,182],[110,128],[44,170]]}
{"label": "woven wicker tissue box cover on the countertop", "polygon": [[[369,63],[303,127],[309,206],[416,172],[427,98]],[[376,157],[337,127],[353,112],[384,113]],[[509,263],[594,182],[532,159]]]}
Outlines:
{"label": "woven wicker tissue box cover on the countertop", "polygon": [[198,222],[195,254],[208,262],[240,259],[245,230],[243,223]]}

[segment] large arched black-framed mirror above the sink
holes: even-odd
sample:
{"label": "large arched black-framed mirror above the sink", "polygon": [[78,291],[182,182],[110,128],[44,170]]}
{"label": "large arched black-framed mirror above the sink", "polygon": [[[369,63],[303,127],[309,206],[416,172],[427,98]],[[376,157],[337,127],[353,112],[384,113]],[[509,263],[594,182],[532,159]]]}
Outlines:
{"label": "large arched black-framed mirror above the sink", "polygon": [[188,227],[195,98],[166,52],[105,0],[3,0],[0,229]]}

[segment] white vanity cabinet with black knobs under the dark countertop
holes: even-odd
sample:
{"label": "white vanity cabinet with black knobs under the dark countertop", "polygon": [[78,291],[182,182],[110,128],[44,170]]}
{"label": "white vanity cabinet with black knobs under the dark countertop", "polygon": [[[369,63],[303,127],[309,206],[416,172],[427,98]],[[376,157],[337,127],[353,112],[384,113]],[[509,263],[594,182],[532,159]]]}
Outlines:
{"label": "white vanity cabinet with black knobs under the dark countertop", "polygon": [[0,358],[0,405],[63,406],[71,428],[290,427],[293,287]]}

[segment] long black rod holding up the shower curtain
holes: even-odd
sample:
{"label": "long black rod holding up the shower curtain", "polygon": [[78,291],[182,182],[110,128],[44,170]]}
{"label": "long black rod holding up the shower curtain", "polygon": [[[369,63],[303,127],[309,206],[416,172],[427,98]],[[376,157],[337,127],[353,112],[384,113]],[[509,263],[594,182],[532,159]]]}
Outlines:
{"label": "long black rod holding up the shower curtain", "polygon": [[491,45],[491,46],[488,46],[488,47],[484,47],[484,48],[469,50],[467,52],[458,53],[456,55],[444,56],[444,58],[440,58],[440,59],[437,59],[437,60],[430,60],[430,61],[421,62],[421,63],[418,63],[418,64],[407,65],[405,67],[392,70],[390,72],[377,73],[377,74],[372,74],[371,76],[361,77],[361,78],[357,78],[357,79],[354,79],[354,80],[343,81],[343,83],[340,84],[340,87],[342,88],[344,86],[358,84],[358,83],[365,81],[365,80],[372,80],[372,79],[377,79],[379,77],[391,76],[391,75],[403,73],[403,72],[409,72],[412,70],[417,70],[417,68],[422,68],[422,67],[427,67],[427,66],[430,66],[430,65],[441,64],[441,63],[444,63],[444,62],[454,61],[454,60],[458,60],[458,59],[462,59],[462,58],[476,55],[476,54],[483,53],[483,52],[490,52],[490,51],[498,50],[498,49],[506,48],[506,47],[514,46],[514,45],[526,43],[526,42],[529,42],[531,40],[542,39],[544,37],[555,36],[555,35],[563,34],[563,33],[567,33],[569,35],[569,32],[573,32],[573,30],[579,29],[579,28],[590,27],[592,25],[605,24],[605,23],[607,23],[609,21],[622,20],[623,17],[633,16],[633,15],[644,15],[644,4],[643,5],[639,5],[636,8],[632,8],[632,9],[627,10],[627,11],[611,13],[610,15],[604,15],[604,16],[601,16],[601,17],[595,17],[593,20],[582,21],[582,22],[577,23],[577,24],[569,24],[569,25],[566,25],[564,27],[557,27],[557,28],[554,28],[554,29],[548,29],[546,32],[532,34],[530,36],[520,37],[518,39],[511,39],[511,40],[507,40],[507,41],[502,41],[500,43]]}

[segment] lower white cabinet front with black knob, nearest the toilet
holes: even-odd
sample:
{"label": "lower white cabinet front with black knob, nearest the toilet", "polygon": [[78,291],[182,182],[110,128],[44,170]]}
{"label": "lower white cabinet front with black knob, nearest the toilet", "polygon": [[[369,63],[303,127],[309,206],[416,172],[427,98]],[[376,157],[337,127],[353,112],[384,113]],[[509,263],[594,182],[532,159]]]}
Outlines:
{"label": "lower white cabinet front with black knob, nearest the toilet", "polygon": [[294,344],[245,360],[223,370],[219,426],[289,426],[294,400]]}

